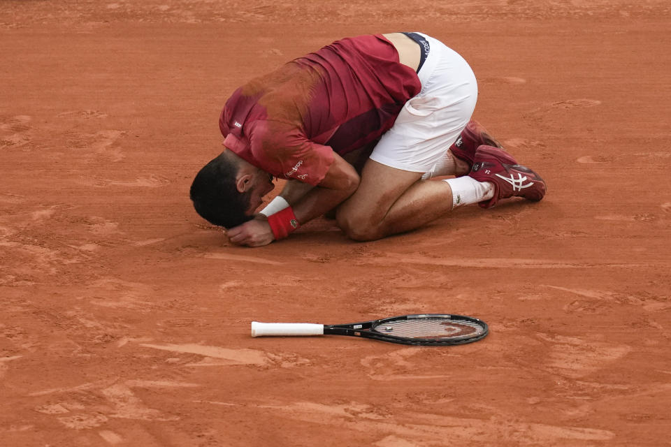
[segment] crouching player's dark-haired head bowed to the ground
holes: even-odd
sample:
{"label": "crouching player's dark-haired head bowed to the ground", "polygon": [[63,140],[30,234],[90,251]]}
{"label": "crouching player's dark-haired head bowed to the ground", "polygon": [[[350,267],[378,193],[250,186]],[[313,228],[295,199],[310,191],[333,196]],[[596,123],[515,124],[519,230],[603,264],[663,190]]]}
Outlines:
{"label": "crouching player's dark-haired head bowed to the ground", "polygon": [[226,150],[199,171],[190,196],[201,217],[232,228],[252,219],[274,187],[272,175]]}

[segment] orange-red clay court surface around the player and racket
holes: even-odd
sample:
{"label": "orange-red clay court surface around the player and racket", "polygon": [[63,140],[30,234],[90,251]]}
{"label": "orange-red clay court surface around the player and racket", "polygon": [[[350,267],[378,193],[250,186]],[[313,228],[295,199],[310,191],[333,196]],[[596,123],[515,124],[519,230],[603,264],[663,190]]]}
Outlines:
{"label": "orange-red clay court surface around the player and racket", "polygon": [[[0,445],[670,445],[668,1],[113,1],[0,2]],[[545,200],[258,249],[196,215],[238,85],[391,31],[466,57]],[[426,312],[491,334],[250,337]]]}

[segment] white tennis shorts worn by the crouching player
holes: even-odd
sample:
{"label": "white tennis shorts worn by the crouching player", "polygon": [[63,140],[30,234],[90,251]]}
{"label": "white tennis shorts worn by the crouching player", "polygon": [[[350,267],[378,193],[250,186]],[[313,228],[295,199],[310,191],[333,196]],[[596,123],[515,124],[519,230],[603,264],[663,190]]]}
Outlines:
{"label": "white tennis shorts worn by the crouching player", "polygon": [[405,103],[370,159],[391,168],[426,173],[468,124],[477,101],[477,81],[457,52],[418,34],[431,45],[417,73],[421,91]]}

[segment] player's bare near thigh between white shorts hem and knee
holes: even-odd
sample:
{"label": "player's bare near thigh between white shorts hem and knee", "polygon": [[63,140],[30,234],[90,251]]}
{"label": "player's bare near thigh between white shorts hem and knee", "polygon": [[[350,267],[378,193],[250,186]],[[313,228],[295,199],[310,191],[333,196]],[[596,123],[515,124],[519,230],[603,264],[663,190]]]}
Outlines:
{"label": "player's bare near thigh between white shorts hem and knee", "polygon": [[363,166],[359,188],[338,207],[338,224],[343,229],[375,228],[391,205],[421,178],[422,173],[391,168],[374,160]]}

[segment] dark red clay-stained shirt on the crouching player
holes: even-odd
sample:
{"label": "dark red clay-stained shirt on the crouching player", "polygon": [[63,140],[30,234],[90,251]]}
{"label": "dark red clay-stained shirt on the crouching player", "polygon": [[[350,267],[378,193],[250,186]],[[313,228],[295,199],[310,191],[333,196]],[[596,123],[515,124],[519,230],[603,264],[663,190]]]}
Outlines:
{"label": "dark red clay-stained shirt on the crouching player", "polygon": [[382,35],[345,38],[237,89],[219,129],[224,146],[257,168],[316,185],[333,152],[380,138],[420,89]]}

